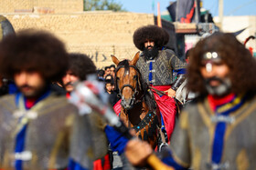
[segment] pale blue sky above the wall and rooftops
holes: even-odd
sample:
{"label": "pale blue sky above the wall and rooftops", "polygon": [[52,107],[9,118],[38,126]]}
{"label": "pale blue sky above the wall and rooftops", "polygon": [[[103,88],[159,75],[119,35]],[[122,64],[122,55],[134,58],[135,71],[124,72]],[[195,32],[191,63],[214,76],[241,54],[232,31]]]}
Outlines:
{"label": "pale blue sky above the wall and rooftops", "polygon": [[[175,0],[173,0],[175,1]],[[224,15],[256,15],[256,0],[223,0]],[[127,11],[135,13],[154,13],[156,15],[157,2],[160,3],[161,12],[166,10],[169,0],[116,0]],[[219,0],[202,0],[203,7],[214,16],[219,14]],[[155,8],[153,8],[155,4]]]}

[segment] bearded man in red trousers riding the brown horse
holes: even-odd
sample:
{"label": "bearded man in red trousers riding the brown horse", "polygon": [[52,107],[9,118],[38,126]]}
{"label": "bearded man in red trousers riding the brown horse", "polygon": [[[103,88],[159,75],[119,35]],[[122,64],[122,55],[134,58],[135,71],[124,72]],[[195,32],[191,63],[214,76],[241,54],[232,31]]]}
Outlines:
{"label": "bearded man in red trousers riding the brown horse", "polygon": [[[160,108],[169,139],[176,117],[174,97],[176,89],[185,79],[186,64],[176,56],[174,51],[165,49],[164,45],[168,40],[168,33],[156,25],[140,27],[133,34],[134,45],[142,51],[136,66],[144,82],[153,87],[155,100]],[[173,77],[173,72],[176,72],[176,77]]]}

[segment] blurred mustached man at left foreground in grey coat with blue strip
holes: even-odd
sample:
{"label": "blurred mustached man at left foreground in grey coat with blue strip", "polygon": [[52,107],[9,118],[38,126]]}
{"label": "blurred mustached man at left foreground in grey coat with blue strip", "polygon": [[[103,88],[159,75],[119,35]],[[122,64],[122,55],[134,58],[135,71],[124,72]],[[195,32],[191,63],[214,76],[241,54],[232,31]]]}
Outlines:
{"label": "blurred mustached man at left foreground in grey coat with blue strip", "polygon": [[[64,45],[46,32],[26,30],[0,43],[0,74],[19,90],[0,98],[0,169],[91,167],[87,148],[80,148],[83,156],[78,156],[72,146],[77,108],[50,88],[68,65]],[[90,145],[88,138],[83,143]]]}

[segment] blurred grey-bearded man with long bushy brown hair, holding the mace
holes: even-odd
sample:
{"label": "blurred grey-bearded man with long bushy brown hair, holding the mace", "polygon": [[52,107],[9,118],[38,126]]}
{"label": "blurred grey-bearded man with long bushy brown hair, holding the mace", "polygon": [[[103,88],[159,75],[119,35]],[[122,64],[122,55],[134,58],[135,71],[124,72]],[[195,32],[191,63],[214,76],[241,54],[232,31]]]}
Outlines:
{"label": "blurred grey-bearded man with long bushy brown hair, holding the mace", "polygon": [[[175,169],[255,169],[255,60],[224,33],[199,41],[191,56],[187,87],[199,96],[181,113],[162,163]],[[126,155],[140,165],[152,151],[133,140]]]}

